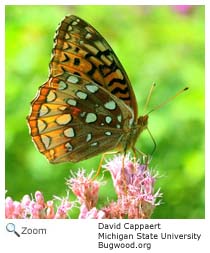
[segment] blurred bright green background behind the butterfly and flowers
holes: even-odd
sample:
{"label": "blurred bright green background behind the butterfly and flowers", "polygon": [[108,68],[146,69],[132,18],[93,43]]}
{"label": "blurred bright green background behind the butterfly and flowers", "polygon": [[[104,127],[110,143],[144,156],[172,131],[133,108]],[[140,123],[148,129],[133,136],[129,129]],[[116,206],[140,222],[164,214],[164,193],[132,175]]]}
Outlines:
{"label": "blurred bright green background behind the butterfly and flowers", "polygon": [[[148,111],[178,90],[189,91],[150,114],[163,203],[152,218],[204,218],[204,6],[6,6],[6,190],[20,200],[43,192],[66,196],[70,170],[97,169],[101,156],[51,165],[31,141],[26,116],[37,89],[48,78],[53,37],[66,15],[92,24],[118,55],[134,88],[139,115],[157,83]],[[145,132],[137,148],[151,152]],[[115,198],[109,175],[100,203]]]}

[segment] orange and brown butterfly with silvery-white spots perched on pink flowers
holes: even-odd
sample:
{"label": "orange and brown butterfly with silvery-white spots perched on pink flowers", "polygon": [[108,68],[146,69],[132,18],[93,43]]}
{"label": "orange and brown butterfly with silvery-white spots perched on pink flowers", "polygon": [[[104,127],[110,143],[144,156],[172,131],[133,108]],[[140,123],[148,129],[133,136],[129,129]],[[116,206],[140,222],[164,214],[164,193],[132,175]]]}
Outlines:
{"label": "orange and brown butterfly with silvery-white spots perched on pink flowers", "polygon": [[67,16],[56,35],[50,76],[31,103],[28,124],[51,163],[77,162],[111,150],[135,150],[148,116],[117,56],[88,23]]}

